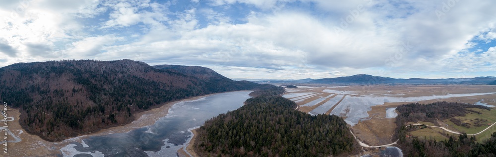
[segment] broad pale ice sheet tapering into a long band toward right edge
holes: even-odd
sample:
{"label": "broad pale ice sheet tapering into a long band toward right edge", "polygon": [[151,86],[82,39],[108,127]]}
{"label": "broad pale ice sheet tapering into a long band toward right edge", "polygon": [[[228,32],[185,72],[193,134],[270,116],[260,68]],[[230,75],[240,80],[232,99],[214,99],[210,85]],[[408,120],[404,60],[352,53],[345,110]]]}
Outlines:
{"label": "broad pale ice sheet tapering into a long band toward right edge", "polygon": [[[345,121],[354,126],[360,119],[369,117],[367,111],[371,110],[371,106],[382,105],[385,102],[418,102],[433,99],[445,99],[452,97],[468,97],[495,94],[492,93],[467,93],[467,94],[447,94],[447,95],[433,95],[433,96],[420,96],[420,97],[389,97],[389,96],[346,96],[339,105],[332,110],[331,114],[346,116]],[[346,113],[346,109],[349,109]]]}

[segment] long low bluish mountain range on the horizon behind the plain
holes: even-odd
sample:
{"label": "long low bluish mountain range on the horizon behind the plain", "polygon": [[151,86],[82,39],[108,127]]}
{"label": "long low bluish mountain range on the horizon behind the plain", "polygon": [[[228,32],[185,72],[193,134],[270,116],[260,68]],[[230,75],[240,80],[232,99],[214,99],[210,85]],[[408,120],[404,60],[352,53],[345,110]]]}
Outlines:
{"label": "long low bluish mountain range on the horizon behind the plain", "polygon": [[372,76],[359,74],[346,77],[324,78],[310,81],[309,83],[320,84],[488,84],[495,81],[496,77],[475,77],[475,78],[447,78],[447,79],[395,79],[390,77]]}

